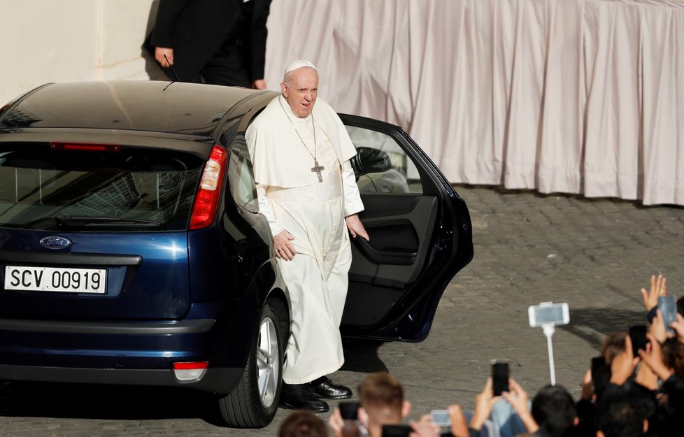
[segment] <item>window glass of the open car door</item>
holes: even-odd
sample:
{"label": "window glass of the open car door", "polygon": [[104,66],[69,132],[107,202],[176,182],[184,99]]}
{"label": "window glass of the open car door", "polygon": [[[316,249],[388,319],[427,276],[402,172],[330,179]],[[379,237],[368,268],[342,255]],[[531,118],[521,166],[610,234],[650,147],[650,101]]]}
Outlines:
{"label": "window glass of the open car door", "polygon": [[394,138],[363,127],[346,128],[357,150],[352,167],[359,192],[422,193],[418,169]]}

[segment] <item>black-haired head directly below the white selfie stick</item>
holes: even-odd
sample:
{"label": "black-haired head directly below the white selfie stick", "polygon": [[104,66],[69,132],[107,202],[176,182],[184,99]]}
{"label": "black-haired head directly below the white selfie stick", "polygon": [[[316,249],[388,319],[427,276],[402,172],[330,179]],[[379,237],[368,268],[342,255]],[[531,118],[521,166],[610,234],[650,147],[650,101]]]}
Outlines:
{"label": "black-haired head directly below the white selfie stick", "polygon": [[574,424],[575,402],[562,385],[547,385],[532,400],[532,417],[548,437],[562,437]]}

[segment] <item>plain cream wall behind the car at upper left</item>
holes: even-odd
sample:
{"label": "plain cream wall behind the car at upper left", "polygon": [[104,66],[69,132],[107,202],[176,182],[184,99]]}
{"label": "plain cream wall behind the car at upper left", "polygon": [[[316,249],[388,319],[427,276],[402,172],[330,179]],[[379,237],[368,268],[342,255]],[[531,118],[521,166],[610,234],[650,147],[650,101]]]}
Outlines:
{"label": "plain cream wall behind the car at upper left", "polygon": [[158,0],[0,0],[0,106],[43,83],[161,78],[141,44]]}

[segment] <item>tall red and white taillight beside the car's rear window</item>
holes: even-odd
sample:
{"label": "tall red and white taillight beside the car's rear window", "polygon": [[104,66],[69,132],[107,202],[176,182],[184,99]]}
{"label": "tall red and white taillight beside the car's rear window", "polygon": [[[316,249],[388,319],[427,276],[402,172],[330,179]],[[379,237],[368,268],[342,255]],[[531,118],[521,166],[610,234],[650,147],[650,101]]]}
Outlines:
{"label": "tall red and white taillight beside the car's rear window", "polygon": [[227,162],[228,152],[218,145],[214,145],[209,160],[204,166],[197,196],[194,198],[190,229],[203,228],[214,221],[216,208],[218,208],[220,201],[221,181]]}

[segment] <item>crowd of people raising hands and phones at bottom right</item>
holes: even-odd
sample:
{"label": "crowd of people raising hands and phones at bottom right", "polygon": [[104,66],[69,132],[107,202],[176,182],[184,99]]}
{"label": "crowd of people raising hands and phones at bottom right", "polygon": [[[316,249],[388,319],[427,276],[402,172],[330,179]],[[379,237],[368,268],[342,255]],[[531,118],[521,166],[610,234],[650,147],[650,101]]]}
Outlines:
{"label": "crowd of people raising hands and phones at bottom right", "polygon": [[[684,299],[676,301],[676,320],[667,326],[659,297],[666,280],[653,276],[641,289],[648,310],[646,341],[639,329],[606,337],[582,380],[580,399],[565,387],[541,387],[530,399],[513,378],[508,391],[494,396],[487,378],[473,410],[448,406],[450,427],[430,415],[404,423],[411,403],[390,373],[371,373],[358,387],[359,402],[343,402],[327,426],[313,413],[288,416],[278,437],[669,437],[684,435]],[[636,347],[633,348],[633,343]]]}

